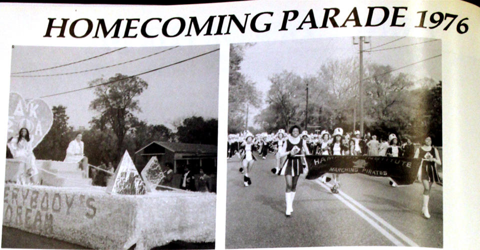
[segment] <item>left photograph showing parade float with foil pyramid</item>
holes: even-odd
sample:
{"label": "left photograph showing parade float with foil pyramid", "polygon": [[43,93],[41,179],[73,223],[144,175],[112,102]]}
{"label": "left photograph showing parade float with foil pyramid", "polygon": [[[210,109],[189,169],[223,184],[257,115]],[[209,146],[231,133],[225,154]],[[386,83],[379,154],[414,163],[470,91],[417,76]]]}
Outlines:
{"label": "left photograph showing parade float with foil pyramid", "polygon": [[1,247],[215,248],[218,51],[13,45]]}

